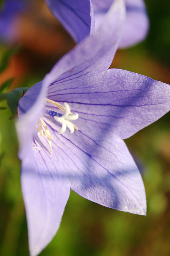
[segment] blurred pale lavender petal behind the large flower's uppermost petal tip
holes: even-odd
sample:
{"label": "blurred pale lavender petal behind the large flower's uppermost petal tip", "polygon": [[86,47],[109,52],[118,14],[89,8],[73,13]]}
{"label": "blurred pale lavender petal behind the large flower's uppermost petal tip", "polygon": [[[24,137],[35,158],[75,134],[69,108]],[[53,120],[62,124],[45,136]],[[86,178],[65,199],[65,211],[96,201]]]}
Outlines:
{"label": "blurred pale lavender petal behind the large flower's uppermost petal tip", "polygon": [[[113,0],[92,0],[96,27],[100,25]],[[148,15],[143,0],[125,0],[126,26],[119,48],[136,44],[147,35],[149,28]]]}

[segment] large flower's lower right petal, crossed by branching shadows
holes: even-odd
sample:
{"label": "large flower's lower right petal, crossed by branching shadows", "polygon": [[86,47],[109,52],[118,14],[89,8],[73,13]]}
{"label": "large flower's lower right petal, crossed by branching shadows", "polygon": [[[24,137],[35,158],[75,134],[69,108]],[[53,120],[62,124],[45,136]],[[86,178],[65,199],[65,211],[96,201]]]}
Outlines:
{"label": "large flower's lower right petal, crossed by branching shadows", "polygon": [[146,196],[140,172],[120,138],[103,124],[76,120],[79,130],[57,134],[48,122],[53,152],[60,158],[58,172],[71,189],[88,200],[134,214],[146,214]]}

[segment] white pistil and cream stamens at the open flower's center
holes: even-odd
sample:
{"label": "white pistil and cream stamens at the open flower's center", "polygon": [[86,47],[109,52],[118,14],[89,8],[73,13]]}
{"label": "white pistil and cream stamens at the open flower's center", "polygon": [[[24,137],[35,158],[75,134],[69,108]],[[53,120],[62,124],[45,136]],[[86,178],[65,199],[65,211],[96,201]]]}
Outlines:
{"label": "white pistil and cream stamens at the open flower's center", "polygon": [[[64,102],[64,106],[62,106],[60,103],[55,102],[54,100],[49,100],[48,98],[44,98],[46,102],[49,102],[56,106],[58,109],[62,110],[64,114],[55,112],[51,110],[50,108],[44,108],[44,112],[48,114],[49,116],[52,116],[54,120],[62,125],[60,132],[58,134],[62,134],[66,131],[68,128],[70,130],[70,133],[73,133],[75,130],[78,130],[78,128],[72,124],[70,121],[74,121],[78,119],[78,114],[73,114],[70,111],[70,106],[68,103]],[[44,129],[43,129],[44,128]],[[48,139],[48,144],[50,145],[50,154],[52,154],[52,143],[51,143],[51,138],[52,136],[50,135],[50,131],[48,130],[48,127],[44,120],[40,118],[38,122],[38,127],[36,127],[36,130],[40,132],[41,136],[45,136]]]}

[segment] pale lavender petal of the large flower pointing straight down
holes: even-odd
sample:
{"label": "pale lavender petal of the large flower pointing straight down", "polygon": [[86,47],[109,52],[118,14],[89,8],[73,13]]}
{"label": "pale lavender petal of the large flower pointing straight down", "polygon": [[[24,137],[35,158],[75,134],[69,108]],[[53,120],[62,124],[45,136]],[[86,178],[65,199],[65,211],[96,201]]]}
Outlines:
{"label": "pale lavender petal of the large flower pointing straight down", "polygon": [[30,144],[27,156],[22,160],[21,185],[30,256],[36,256],[60,226],[70,184],[58,174],[48,154],[39,151],[36,144]]}

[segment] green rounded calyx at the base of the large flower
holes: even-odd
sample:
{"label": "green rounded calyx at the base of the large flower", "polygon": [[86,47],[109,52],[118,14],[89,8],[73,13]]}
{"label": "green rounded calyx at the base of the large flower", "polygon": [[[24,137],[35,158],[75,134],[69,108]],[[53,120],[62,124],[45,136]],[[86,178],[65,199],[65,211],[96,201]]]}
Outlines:
{"label": "green rounded calyx at the base of the large flower", "polygon": [[17,114],[17,106],[18,106],[18,101],[20,100],[20,98],[22,96],[24,96],[24,94],[26,93],[26,91],[29,88],[27,87],[20,87],[20,88],[16,88],[13,91],[9,92],[7,95],[7,104],[8,107],[10,108],[11,112],[13,115]]}

